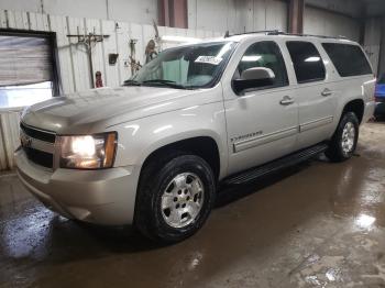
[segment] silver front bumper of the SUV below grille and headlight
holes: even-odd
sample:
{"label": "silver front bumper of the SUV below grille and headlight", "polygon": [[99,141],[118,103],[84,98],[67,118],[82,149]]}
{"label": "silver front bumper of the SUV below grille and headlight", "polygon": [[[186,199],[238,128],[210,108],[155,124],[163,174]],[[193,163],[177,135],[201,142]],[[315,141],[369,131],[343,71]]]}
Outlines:
{"label": "silver front bumper of the SUV below grille and headlight", "polygon": [[140,167],[52,171],[31,163],[22,149],[14,158],[22,184],[48,209],[97,224],[132,223]]}

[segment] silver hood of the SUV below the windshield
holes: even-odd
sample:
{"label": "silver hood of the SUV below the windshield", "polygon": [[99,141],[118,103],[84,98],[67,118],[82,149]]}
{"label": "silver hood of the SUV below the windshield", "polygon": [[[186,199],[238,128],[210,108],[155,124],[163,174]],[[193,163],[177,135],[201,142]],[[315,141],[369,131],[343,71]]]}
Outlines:
{"label": "silver hood of the SUV below the windshield", "polygon": [[201,91],[163,87],[94,89],[34,104],[25,110],[22,121],[58,134],[95,133],[118,123],[197,104],[194,101],[197,98],[190,96]]}

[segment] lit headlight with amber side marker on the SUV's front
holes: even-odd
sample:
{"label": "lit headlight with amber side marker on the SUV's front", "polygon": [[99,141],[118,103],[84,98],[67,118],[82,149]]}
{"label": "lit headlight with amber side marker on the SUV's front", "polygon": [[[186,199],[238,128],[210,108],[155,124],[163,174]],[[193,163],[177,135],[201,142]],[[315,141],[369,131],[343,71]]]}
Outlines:
{"label": "lit headlight with amber side marker on the SUV's front", "polygon": [[61,136],[61,167],[75,169],[111,168],[117,149],[116,132]]}

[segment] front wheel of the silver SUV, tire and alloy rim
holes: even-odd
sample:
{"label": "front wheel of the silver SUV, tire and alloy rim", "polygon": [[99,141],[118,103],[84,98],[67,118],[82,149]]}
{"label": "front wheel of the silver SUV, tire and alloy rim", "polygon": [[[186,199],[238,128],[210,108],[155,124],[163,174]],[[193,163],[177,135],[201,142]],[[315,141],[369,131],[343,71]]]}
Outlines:
{"label": "front wheel of the silver SUV, tire and alloy rim", "polygon": [[153,160],[142,171],[134,225],[156,242],[183,241],[204,225],[215,197],[213,173],[202,158],[176,153]]}

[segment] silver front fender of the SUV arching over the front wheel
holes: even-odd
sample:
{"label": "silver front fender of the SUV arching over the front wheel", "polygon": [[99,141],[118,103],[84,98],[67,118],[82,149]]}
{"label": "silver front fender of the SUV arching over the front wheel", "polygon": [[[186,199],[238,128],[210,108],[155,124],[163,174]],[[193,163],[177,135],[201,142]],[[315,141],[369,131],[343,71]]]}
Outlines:
{"label": "silver front fender of the SUV arching over the front wheel", "polygon": [[156,149],[191,137],[215,140],[220,156],[220,178],[226,175],[228,148],[222,102],[195,106],[155,114],[114,126],[118,131],[117,167],[142,166]]}

